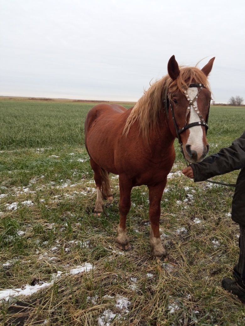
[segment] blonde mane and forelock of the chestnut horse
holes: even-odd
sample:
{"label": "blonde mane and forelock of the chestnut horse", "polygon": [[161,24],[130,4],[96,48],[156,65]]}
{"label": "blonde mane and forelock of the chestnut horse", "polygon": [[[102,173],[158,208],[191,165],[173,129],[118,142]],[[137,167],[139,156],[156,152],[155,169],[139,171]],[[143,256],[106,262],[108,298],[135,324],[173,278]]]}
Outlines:
{"label": "blonde mane and forelock of the chestnut horse", "polygon": [[127,118],[123,133],[128,134],[131,126],[138,121],[139,133],[146,141],[149,141],[151,130],[158,128],[159,115],[163,109],[163,100],[166,87],[171,95],[177,91],[184,93],[191,82],[202,83],[209,89],[206,75],[197,67],[179,67],[180,74],[174,81],[166,75],[159,81],[153,83],[144,95],[135,104]]}

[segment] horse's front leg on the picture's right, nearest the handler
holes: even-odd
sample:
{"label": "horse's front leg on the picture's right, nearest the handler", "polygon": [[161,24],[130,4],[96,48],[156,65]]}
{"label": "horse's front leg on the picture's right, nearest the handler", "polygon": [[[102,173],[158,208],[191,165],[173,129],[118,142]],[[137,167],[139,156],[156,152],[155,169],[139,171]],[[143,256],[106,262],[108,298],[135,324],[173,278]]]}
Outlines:
{"label": "horse's front leg on the picture's right, nearest the handler", "polygon": [[161,260],[168,260],[167,253],[162,246],[160,232],[159,232],[159,220],[161,214],[161,199],[163,190],[167,183],[167,178],[155,185],[148,186],[149,188],[149,218],[151,222],[151,230],[150,230],[150,244],[152,247],[152,254],[156,258]]}

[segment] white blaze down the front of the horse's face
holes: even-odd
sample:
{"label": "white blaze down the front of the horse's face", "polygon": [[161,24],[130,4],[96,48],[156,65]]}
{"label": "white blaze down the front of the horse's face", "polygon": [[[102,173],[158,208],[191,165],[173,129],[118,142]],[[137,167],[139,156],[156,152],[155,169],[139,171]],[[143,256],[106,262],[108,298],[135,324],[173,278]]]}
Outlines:
{"label": "white blaze down the front of the horse's face", "polygon": [[[197,87],[190,87],[187,90],[187,94],[189,95],[189,98],[193,101],[193,106],[196,107],[197,110],[191,106],[190,113],[189,113],[189,124],[193,122],[199,122],[201,121],[197,112],[199,112],[197,107],[197,94],[198,94],[198,88]],[[191,145],[191,150],[196,151],[197,153],[203,153],[203,129],[201,126],[194,126],[190,127],[189,129],[189,137],[187,140],[187,144]],[[199,155],[198,155],[199,156]]]}

